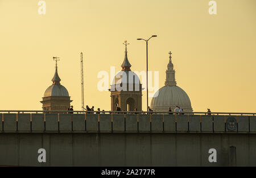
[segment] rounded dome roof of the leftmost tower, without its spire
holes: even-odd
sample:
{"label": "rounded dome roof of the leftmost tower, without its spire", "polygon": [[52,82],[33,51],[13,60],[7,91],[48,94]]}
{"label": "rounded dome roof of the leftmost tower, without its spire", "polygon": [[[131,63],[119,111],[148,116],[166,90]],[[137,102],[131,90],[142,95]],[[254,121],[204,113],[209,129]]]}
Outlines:
{"label": "rounded dome roof of the leftmost tower, without its spire", "polygon": [[52,96],[68,97],[69,94],[68,90],[63,85],[53,84],[46,89],[46,92],[44,92],[44,97]]}

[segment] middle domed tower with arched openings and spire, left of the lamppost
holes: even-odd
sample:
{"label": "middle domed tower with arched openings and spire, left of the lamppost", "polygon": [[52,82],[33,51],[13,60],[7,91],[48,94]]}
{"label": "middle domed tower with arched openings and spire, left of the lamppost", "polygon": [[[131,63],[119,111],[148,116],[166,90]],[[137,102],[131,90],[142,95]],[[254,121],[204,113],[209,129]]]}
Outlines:
{"label": "middle domed tower with arched openings and spire, left of the lamppost", "polygon": [[127,41],[125,45],[125,59],[121,65],[122,70],[118,72],[110,85],[111,92],[111,110],[116,110],[116,104],[121,107],[121,110],[133,111],[135,108],[138,111],[142,110],[142,84],[139,77],[131,71],[131,64],[127,57]]}

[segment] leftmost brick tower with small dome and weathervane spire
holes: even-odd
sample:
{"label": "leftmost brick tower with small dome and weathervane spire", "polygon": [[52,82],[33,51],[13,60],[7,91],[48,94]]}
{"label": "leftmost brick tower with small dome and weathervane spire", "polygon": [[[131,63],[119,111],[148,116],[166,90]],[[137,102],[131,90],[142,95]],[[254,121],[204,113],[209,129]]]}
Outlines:
{"label": "leftmost brick tower with small dome and weathervane spire", "polygon": [[67,110],[70,107],[70,96],[68,90],[60,85],[60,77],[57,71],[57,61],[59,57],[53,57],[55,60],[55,74],[52,78],[52,85],[46,89],[44,92],[43,101],[40,101],[43,104],[43,110]]}

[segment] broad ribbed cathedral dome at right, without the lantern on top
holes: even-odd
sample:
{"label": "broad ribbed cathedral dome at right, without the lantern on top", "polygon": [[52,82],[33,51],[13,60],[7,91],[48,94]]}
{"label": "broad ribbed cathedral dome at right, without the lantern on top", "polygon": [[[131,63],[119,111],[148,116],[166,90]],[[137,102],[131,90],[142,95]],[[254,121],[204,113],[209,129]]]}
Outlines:
{"label": "broad ribbed cathedral dome at right, without the lantern on top", "polygon": [[153,111],[168,111],[169,107],[174,110],[176,106],[180,106],[184,111],[193,111],[188,94],[179,86],[163,86],[151,100]]}

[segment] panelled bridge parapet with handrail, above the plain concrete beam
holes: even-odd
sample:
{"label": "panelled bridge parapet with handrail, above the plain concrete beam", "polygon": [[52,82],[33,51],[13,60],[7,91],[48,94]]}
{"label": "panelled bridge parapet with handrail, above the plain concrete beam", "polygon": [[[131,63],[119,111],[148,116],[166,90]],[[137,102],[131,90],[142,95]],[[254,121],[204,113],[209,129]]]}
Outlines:
{"label": "panelled bridge parapet with handrail, above the plain concrete beam", "polygon": [[69,112],[2,110],[0,132],[256,133],[256,113]]}

